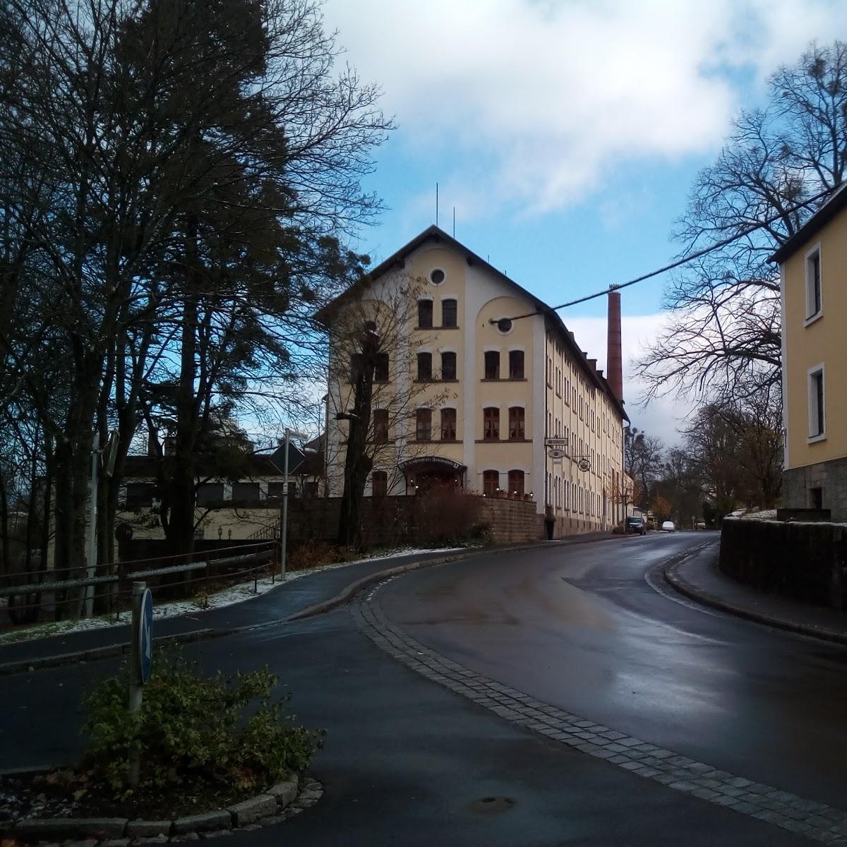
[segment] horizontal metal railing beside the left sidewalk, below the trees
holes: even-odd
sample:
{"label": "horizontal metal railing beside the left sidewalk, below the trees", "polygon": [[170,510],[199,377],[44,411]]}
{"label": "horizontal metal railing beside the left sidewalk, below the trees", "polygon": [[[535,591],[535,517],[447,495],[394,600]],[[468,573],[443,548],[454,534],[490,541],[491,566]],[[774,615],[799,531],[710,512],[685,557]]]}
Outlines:
{"label": "horizontal metal railing beside the left sidewalk, below the trees", "polygon": [[[25,582],[0,587],[0,600],[8,601],[8,614],[13,623],[36,623],[43,612],[52,612],[51,617],[56,619],[80,617],[85,602],[84,589],[91,585],[98,592],[96,616],[113,614],[119,620],[121,612],[131,607],[132,583],[139,579],[147,582],[157,600],[194,599],[202,608],[208,595],[215,590],[252,579],[253,590],[257,592],[260,576],[268,574],[275,580],[279,572],[279,542],[257,541],[251,545],[191,554],[110,562],[98,566],[97,575],[93,577],[84,575],[85,566],[9,574],[6,582],[14,579],[25,579]],[[63,573],[66,574],[64,579]]]}

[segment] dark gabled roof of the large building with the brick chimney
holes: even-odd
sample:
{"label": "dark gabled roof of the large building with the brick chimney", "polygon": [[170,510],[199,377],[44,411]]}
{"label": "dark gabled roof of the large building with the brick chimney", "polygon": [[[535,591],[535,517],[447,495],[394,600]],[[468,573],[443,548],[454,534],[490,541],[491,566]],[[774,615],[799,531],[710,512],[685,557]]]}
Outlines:
{"label": "dark gabled roof of the large building with the brick chimney", "polygon": [[536,313],[545,315],[548,321],[548,326],[556,331],[556,334],[559,335],[560,339],[564,343],[564,346],[567,347],[567,350],[571,353],[576,362],[579,363],[590,382],[592,382],[596,388],[604,391],[609,396],[623,419],[626,421],[629,420],[627,413],[623,410],[623,402],[617,399],[614,392],[609,387],[609,384],[606,382],[606,379],[597,372],[597,369],[591,367],[588,358],[584,356],[582,350],[579,348],[579,345],[573,339],[562,321],[562,318],[560,318],[550,306],[548,306],[543,300],[536,297],[531,291],[527,291],[522,285],[518,285],[515,280],[512,280],[502,271],[495,268],[492,264],[486,262],[483,257],[478,256],[475,252],[473,252],[473,250],[464,246],[461,241],[457,241],[444,230],[440,229],[440,227],[435,226],[435,224],[428,226],[422,233],[420,233],[420,235],[416,235],[412,238],[412,241],[409,241],[397,252],[390,255],[390,257],[385,259],[384,262],[379,263],[369,274],[363,276],[361,280],[358,280],[357,283],[348,288],[347,291],[340,294],[340,296],[335,297],[335,300],[327,303],[326,306],[319,309],[318,312],[315,313],[315,319],[318,323],[328,326],[331,314],[337,307],[344,305],[344,303],[358,296],[360,291],[363,291],[368,287],[368,285],[372,285],[376,280],[379,280],[379,277],[384,276],[395,268],[402,268],[406,263],[407,257],[409,257],[412,252],[415,252],[418,247],[424,246],[424,244],[432,241],[449,247],[456,252],[463,253],[468,265],[479,265],[479,267],[484,268],[484,270],[493,274],[498,280],[501,280],[501,282],[512,287],[516,293],[526,297],[529,302],[533,304]]}

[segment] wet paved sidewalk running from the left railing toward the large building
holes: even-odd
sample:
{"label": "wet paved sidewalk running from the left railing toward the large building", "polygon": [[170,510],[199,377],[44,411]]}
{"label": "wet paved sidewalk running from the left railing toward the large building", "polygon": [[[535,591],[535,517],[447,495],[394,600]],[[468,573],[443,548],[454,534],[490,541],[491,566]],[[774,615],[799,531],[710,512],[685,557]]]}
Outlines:
{"label": "wet paved sidewalk running from the left railing toward the large building", "polygon": [[[157,620],[153,625],[153,632],[156,639],[209,638],[216,634],[231,632],[233,629],[281,623],[319,604],[332,602],[335,605],[335,598],[338,598],[349,586],[390,568],[419,562],[442,562],[469,556],[491,556],[501,551],[532,549],[536,546],[584,544],[620,538],[623,538],[623,535],[594,533],[556,541],[498,545],[451,552],[414,553],[388,559],[366,559],[363,562],[353,562],[343,567],[286,581],[280,584],[279,588],[272,589],[252,600],[209,609],[205,612],[198,609],[197,612]],[[79,662],[80,659],[94,660],[115,655],[129,643],[129,639],[130,624],[125,623],[29,639],[14,644],[3,644],[0,645],[0,673],[18,673],[25,671],[28,665],[44,667],[45,663],[56,664],[64,660]],[[22,667],[17,667],[18,665]]]}

